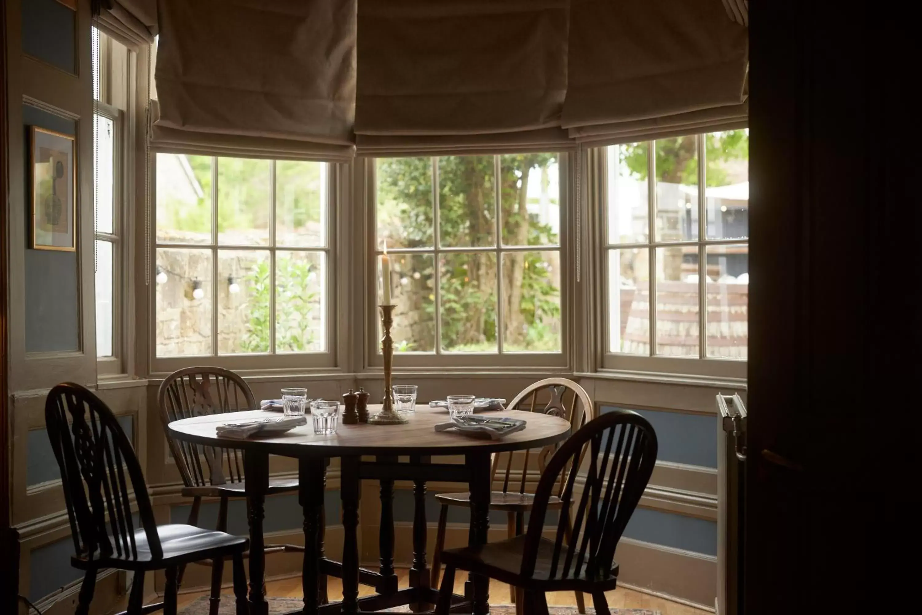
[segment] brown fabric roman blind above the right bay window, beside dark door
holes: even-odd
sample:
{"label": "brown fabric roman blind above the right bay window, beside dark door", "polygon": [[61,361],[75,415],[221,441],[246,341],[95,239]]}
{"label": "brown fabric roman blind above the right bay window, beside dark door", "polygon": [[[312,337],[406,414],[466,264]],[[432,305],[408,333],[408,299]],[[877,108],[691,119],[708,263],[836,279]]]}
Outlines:
{"label": "brown fabric roman blind above the right bay window, beside dark door", "polygon": [[709,115],[719,124],[739,117],[748,63],[748,32],[720,0],[572,0],[562,125],[617,134],[652,120],[656,132],[661,118],[727,107]]}

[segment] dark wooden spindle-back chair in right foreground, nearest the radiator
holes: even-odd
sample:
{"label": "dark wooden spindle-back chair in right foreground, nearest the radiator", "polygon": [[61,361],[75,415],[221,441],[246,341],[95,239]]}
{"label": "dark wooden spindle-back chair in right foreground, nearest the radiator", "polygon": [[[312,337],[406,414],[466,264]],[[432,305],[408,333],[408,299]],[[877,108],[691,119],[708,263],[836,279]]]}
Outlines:
{"label": "dark wooden spindle-back chair in right foreground, nearest the radiator", "polygon": [[[455,569],[460,568],[514,585],[527,615],[547,615],[544,594],[555,591],[591,594],[597,614],[609,615],[605,592],[618,582],[615,547],[655,464],[656,433],[636,412],[615,410],[586,423],[561,445],[541,475],[525,536],[443,551],[445,574],[436,613],[450,611]],[[577,475],[585,478],[582,493]],[[546,528],[561,480],[561,513],[556,528]]]}

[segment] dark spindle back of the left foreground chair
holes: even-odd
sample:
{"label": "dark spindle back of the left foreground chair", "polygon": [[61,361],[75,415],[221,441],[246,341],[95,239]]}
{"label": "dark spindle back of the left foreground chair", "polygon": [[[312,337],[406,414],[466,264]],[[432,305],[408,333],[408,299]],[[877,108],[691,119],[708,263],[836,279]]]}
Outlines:
{"label": "dark spindle back of the left foreground chair", "polygon": [[163,557],[144,475],[112,410],[79,384],[58,384],[45,400],[45,426],[77,557],[137,559],[131,495],[151,556]]}

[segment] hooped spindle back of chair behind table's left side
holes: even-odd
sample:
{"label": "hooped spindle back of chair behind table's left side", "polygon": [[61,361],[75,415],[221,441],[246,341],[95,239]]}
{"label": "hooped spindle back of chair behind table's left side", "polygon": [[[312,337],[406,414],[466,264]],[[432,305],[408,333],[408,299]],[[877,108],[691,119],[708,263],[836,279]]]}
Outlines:
{"label": "hooped spindle back of chair behind table's left side", "polygon": [[167,428],[173,420],[258,409],[253,392],[239,375],[220,367],[189,367],[173,372],[160,384],[157,405],[186,487],[243,480],[242,451],[178,441],[170,437]]}

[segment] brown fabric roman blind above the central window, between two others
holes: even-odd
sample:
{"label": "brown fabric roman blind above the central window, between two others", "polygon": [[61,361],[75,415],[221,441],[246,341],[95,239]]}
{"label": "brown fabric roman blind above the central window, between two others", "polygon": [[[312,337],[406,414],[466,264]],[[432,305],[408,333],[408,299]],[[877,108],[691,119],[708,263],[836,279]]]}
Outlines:
{"label": "brown fabric roman blind above the central window, between two others", "polygon": [[360,152],[565,144],[535,131],[560,126],[568,19],[568,0],[361,1]]}

